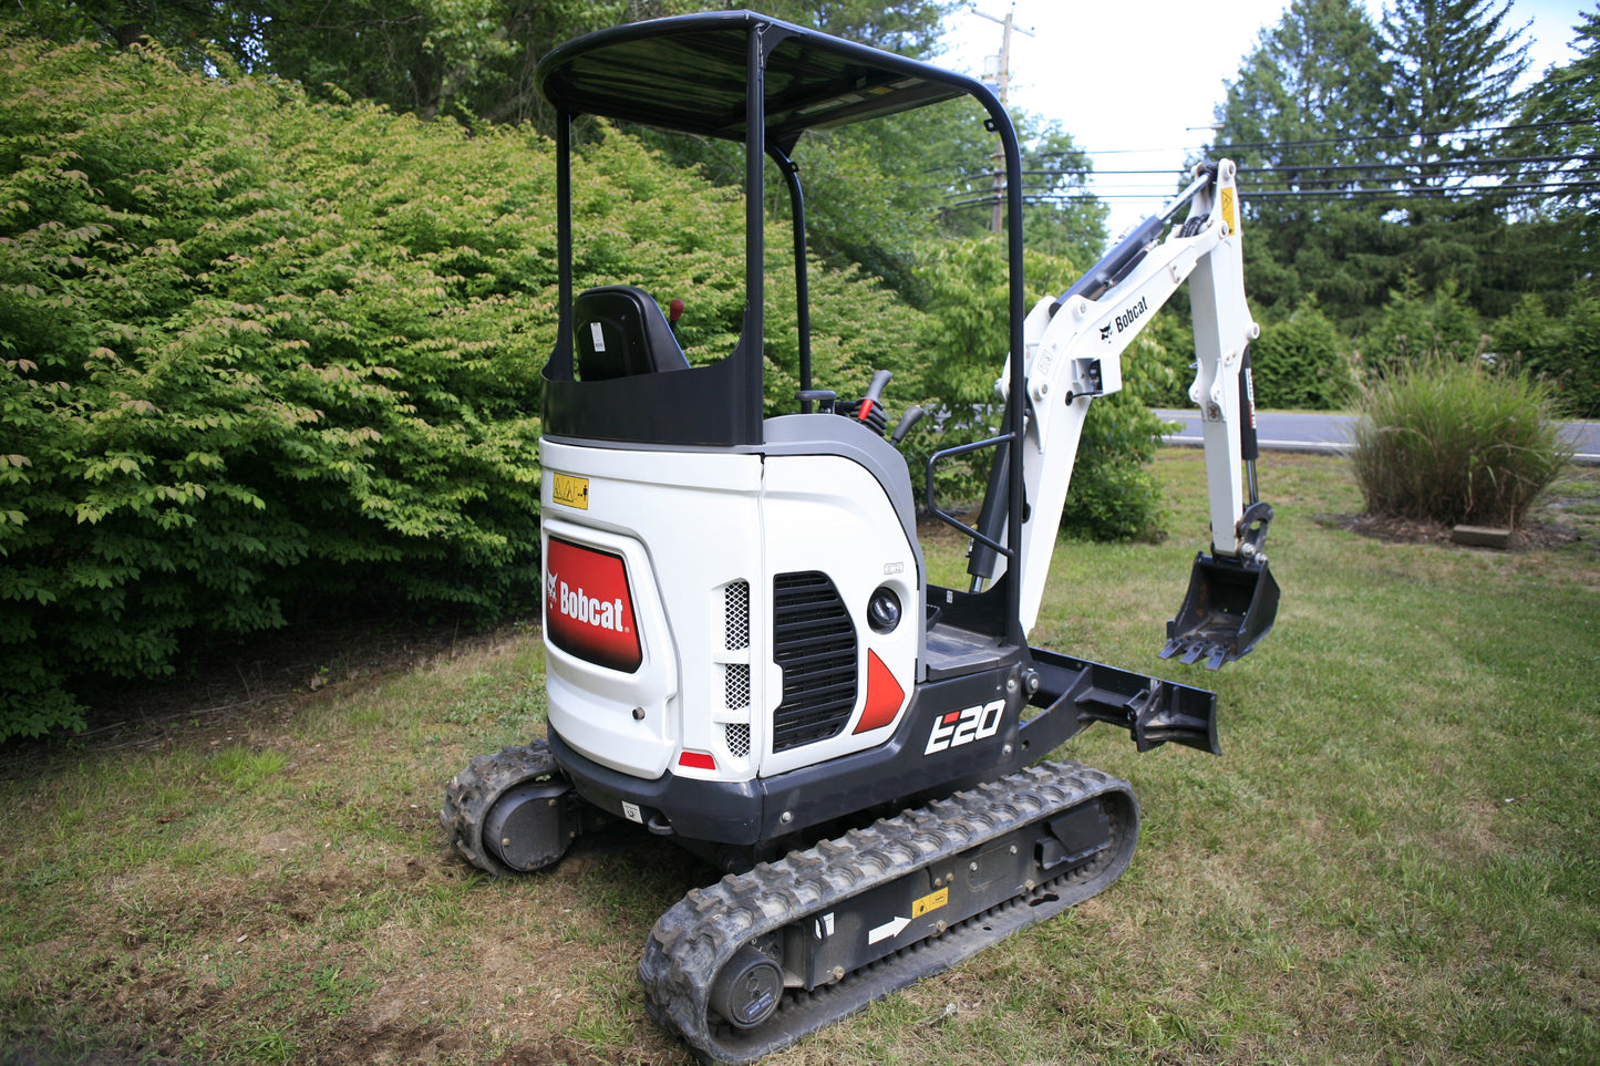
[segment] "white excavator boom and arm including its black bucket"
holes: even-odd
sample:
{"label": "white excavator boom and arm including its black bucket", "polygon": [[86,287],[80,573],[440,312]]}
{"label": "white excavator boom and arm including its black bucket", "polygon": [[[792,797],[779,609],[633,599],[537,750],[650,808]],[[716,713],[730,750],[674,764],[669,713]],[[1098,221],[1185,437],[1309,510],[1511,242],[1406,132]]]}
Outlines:
{"label": "white excavator boom and arm including its black bucket", "polygon": [[[1123,354],[1184,282],[1195,338],[1189,395],[1203,424],[1211,551],[1195,559],[1162,656],[1205,658],[1216,669],[1250,651],[1272,626],[1278,594],[1262,551],[1272,507],[1256,491],[1248,355],[1261,328],[1245,303],[1235,173],[1230,160],[1197,166],[1194,182],[1165,211],[1027,315],[1021,455],[1029,507],[1018,560],[1024,632],[1038,618],[1090,402],[1122,389]],[[1173,226],[1184,206],[1187,218]],[[1010,375],[1002,378],[1002,394],[1008,381]],[[974,565],[994,570],[974,573],[982,581],[997,578],[1006,560],[976,552]]]}

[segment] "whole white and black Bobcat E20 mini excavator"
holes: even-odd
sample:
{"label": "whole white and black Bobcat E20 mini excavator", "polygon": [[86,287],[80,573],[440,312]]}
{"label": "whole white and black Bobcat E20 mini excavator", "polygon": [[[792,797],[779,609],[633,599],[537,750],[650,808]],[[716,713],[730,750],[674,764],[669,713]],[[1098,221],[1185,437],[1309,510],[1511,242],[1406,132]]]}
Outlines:
{"label": "whole white and black Bobcat E20 mini excavator", "polygon": [[[632,821],[726,876],[654,925],[648,1010],[698,1056],[746,1063],[1101,892],[1139,826],[1130,786],[1042,762],[1094,722],[1219,752],[1213,693],[1029,647],[1083,418],[1187,280],[1211,551],[1163,655],[1218,667],[1272,624],[1256,501],[1234,165],[1197,168],[1059,298],[1024,306],[1021,149],[981,82],[749,11],[603,30],[552,51],[560,330],[541,442],[549,739],[480,755],[442,823],[493,874],[555,863]],[[930,584],[912,477],[861,400],[813,389],[795,144],[811,130],[968,98],[1006,168],[1005,423],[936,453],[926,506],[971,539],[971,586]],[[656,301],[574,293],[571,123],[598,115],[744,147],[746,304],[731,354],[690,365]],[[766,416],[765,168],[794,216],[802,391]],[[1187,208],[1186,221],[1174,222]],[[1168,234],[1168,229],[1173,229]],[[1163,237],[1165,234],[1165,237]],[[925,426],[925,432],[930,431]],[[974,525],[933,471],[987,451]]]}

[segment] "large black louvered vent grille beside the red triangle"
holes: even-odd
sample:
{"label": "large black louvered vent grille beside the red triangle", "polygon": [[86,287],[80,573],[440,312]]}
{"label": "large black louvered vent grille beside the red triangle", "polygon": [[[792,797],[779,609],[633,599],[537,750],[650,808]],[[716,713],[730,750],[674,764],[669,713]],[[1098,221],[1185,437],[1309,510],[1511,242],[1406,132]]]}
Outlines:
{"label": "large black louvered vent grille beside the red triangle", "polygon": [[826,573],[773,578],[773,661],[784,669],[773,751],[845,728],[856,709],[856,627]]}

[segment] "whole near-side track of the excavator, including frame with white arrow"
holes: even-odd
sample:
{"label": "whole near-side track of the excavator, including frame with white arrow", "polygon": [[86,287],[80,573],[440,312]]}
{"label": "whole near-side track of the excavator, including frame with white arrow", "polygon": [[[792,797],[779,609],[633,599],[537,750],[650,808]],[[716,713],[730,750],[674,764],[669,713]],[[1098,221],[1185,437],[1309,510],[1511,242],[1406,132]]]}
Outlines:
{"label": "whole near-side track of the excavator, including frame with white arrow", "polygon": [[762,863],[656,922],[646,1008],[704,1063],[755,1061],[1096,895],[1138,826],[1125,781],[1046,762]]}

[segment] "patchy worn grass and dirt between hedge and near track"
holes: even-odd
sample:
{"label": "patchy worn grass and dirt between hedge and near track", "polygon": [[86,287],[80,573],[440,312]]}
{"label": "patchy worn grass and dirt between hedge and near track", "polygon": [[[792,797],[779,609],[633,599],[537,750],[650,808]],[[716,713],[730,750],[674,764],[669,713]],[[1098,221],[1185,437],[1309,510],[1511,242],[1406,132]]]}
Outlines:
{"label": "patchy worn grass and dirt between hedge and near track", "polygon": [[[232,695],[226,669],[198,671],[109,699],[75,738],[0,752],[11,810],[46,837],[72,836],[56,821],[70,804],[37,799],[50,767],[85,795],[123,754],[141,775],[104,807],[94,860],[62,864],[45,839],[0,860],[0,919],[18,892],[51,925],[0,988],[0,1044],[24,1048],[0,1063],[682,1060],[635,1031],[634,968],[656,914],[712,874],[646,839],[496,882],[438,828],[451,767],[518,739],[482,735],[520,728],[501,696],[536,683],[512,666],[536,632],[389,631],[307,669],[347,637],[269,639],[240,653],[251,680]],[[421,720],[416,679],[443,701]],[[146,815],[149,792],[174,799]]]}

